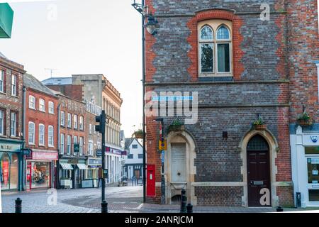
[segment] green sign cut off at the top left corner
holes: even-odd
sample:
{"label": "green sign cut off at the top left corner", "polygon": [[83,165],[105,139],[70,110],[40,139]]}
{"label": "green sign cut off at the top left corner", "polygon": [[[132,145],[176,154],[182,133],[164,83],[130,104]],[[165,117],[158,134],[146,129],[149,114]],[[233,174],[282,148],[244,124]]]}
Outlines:
{"label": "green sign cut off at the top left corner", "polygon": [[11,38],[13,10],[7,3],[0,3],[0,38]]}

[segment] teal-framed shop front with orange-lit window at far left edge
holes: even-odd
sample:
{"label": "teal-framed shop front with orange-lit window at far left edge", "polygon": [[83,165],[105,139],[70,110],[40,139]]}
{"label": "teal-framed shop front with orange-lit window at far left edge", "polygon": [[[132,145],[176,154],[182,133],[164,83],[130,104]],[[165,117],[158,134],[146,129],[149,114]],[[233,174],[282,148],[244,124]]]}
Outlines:
{"label": "teal-framed shop front with orange-lit window at far left edge", "polygon": [[21,143],[0,142],[0,180],[2,190],[21,189]]}

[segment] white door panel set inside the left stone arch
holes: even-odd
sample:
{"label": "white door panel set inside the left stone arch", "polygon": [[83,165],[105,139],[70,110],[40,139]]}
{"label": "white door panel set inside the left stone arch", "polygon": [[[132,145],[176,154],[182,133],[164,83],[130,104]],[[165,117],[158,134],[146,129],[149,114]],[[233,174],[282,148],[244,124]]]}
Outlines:
{"label": "white door panel set inside the left stone arch", "polygon": [[171,177],[172,182],[187,182],[186,179],[186,143],[171,145]]}

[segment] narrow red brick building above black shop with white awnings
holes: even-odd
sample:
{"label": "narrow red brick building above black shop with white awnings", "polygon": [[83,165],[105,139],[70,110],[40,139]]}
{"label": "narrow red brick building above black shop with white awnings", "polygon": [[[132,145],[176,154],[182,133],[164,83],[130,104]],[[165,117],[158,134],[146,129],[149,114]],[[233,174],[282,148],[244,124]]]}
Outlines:
{"label": "narrow red brick building above black shop with white awnings", "polygon": [[[72,99],[60,92],[53,91],[59,98],[58,144],[59,163],[57,164],[58,188],[81,188],[86,179],[87,150],[86,141],[86,104]],[[74,144],[79,152],[74,152]]]}

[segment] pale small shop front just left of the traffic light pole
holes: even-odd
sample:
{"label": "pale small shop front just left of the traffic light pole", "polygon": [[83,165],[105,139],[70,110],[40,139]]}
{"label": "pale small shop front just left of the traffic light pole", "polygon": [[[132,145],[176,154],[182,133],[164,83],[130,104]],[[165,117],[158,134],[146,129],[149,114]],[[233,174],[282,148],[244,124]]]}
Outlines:
{"label": "pale small shop front just left of the traffic light pole", "polygon": [[102,159],[89,157],[87,167],[86,179],[82,181],[82,187],[99,187],[99,168],[102,167]]}

